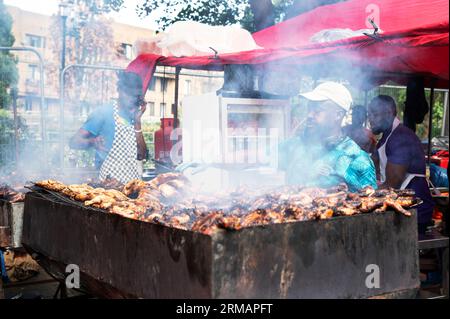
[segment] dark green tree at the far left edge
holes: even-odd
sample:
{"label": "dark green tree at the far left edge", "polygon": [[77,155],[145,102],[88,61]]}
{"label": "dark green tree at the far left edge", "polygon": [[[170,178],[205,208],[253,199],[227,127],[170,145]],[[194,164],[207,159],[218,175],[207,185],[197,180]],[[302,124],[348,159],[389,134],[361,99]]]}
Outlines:
{"label": "dark green tree at the far left edge", "polygon": [[[0,47],[11,47],[14,44],[14,36],[11,32],[12,18],[6,11],[3,0],[0,0]],[[0,51],[0,108],[6,108],[11,98],[8,90],[16,86],[18,72],[16,59],[8,51]]]}

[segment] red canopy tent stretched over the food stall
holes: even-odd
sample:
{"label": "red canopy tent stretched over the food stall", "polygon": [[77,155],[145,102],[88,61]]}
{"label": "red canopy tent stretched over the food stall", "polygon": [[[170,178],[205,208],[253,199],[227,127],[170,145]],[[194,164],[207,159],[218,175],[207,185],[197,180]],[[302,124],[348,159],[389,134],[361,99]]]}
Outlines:
{"label": "red canopy tent stretched over the food stall", "polygon": [[[353,37],[311,43],[325,29],[367,28],[371,10],[383,32],[377,38]],[[261,50],[203,57],[139,55],[127,70],[139,73],[144,88],[156,64],[188,69],[222,70],[227,64],[311,65],[346,63],[375,72],[380,78],[421,74],[448,88],[449,3],[447,0],[350,0],[322,6],[253,34]],[[377,20],[377,19],[375,19]]]}

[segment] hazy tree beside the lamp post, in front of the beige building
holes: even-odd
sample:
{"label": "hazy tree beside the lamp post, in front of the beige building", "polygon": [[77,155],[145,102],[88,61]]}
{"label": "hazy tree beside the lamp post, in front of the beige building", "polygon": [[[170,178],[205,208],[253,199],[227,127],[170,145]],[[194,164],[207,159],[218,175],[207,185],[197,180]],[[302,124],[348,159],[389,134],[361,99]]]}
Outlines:
{"label": "hazy tree beside the lamp post, in front of the beige building", "polygon": [[[66,33],[66,54],[65,65],[87,64],[87,65],[111,65],[116,58],[116,47],[113,42],[113,31],[110,20],[105,17],[105,13],[110,10],[119,10],[122,0],[75,0],[71,7],[71,15],[67,20]],[[52,48],[55,60],[61,61],[61,51],[63,43],[62,22],[57,15],[53,16],[51,26]],[[53,65],[50,68],[53,80],[58,83],[60,65]],[[96,70],[74,68],[70,72],[72,76],[65,78],[65,98],[69,102],[79,104],[86,101],[88,104],[100,104],[102,99],[101,72]],[[111,95],[115,90],[114,85],[108,87]],[[87,102],[88,101],[88,102]]]}

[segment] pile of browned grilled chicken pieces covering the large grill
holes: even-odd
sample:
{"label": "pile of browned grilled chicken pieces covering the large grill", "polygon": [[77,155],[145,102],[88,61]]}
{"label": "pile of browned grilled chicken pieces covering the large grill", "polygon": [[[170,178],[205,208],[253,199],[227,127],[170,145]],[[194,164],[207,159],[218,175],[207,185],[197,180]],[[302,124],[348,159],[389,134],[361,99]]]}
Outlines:
{"label": "pile of browned grilled chicken pieces covering the large grill", "polygon": [[150,182],[133,180],[122,191],[87,184],[36,183],[86,206],[146,222],[211,234],[218,228],[287,223],[364,213],[390,208],[405,216],[417,204],[411,190],[370,187],[350,193],[345,185],[331,189],[286,186],[278,189],[241,188],[223,194],[199,194],[181,174],[161,174]]}

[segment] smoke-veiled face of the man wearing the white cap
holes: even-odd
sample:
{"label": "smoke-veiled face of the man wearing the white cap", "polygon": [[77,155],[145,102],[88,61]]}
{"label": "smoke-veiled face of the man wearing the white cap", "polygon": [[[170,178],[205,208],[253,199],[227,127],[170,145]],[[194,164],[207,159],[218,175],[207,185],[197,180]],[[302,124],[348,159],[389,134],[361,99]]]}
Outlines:
{"label": "smoke-veiled face of the man wearing the white cap", "polygon": [[343,111],[332,101],[310,101],[305,135],[308,138],[319,139],[328,137],[334,132],[336,125],[340,126]]}

